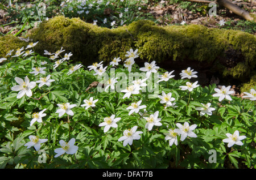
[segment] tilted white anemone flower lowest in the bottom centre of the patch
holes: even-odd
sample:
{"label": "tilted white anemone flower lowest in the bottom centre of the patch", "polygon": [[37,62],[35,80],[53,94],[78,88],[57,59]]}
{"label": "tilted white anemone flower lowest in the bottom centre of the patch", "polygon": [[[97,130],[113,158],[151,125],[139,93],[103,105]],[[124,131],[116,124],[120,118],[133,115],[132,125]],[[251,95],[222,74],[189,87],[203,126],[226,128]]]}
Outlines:
{"label": "tilted white anemone flower lowest in the bottom centre of the patch", "polygon": [[141,139],[142,131],[137,131],[138,126],[134,126],[131,129],[123,131],[123,136],[118,139],[118,142],[123,141],[123,146],[126,146],[127,144],[132,145],[133,140]]}

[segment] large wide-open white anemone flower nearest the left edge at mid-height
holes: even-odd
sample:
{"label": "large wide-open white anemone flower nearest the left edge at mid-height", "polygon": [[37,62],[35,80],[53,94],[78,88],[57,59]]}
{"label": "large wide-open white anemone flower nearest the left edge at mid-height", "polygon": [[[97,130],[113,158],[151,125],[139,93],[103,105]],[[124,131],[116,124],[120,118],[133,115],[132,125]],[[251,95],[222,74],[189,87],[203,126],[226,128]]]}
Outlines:
{"label": "large wide-open white anemone flower nearest the left edge at mid-height", "polygon": [[30,79],[28,79],[28,77],[25,77],[25,81],[23,81],[23,79],[21,78],[14,78],[16,83],[18,83],[19,85],[14,85],[14,87],[11,87],[12,91],[19,91],[17,98],[22,98],[25,94],[28,97],[32,96],[32,91],[31,89],[33,89],[36,86],[35,82],[30,82]]}

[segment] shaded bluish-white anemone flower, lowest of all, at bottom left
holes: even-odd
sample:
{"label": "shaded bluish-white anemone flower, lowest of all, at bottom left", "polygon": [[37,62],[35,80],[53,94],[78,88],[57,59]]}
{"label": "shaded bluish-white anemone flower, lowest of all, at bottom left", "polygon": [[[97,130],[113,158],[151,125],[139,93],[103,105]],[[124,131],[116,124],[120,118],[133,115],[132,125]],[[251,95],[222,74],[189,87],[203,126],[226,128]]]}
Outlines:
{"label": "shaded bluish-white anemone flower, lowest of all, at bottom left", "polygon": [[64,142],[64,140],[60,140],[59,143],[61,148],[57,148],[54,150],[54,152],[57,153],[57,155],[55,155],[54,157],[59,157],[64,153],[67,153],[69,155],[75,154],[79,148],[77,145],[74,145],[75,142],[76,142],[75,138],[72,138],[71,140],[69,140],[68,143]]}

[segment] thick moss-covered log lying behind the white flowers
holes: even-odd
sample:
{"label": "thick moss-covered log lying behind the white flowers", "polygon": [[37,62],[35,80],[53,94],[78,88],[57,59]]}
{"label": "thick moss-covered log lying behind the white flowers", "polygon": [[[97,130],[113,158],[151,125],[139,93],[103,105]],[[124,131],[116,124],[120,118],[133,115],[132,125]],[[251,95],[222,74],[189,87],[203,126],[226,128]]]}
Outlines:
{"label": "thick moss-covered log lying behind the white flowers", "polygon": [[[39,41],[35,46],[39,54],[63,47],[66,52],[73,53],[74,61],[85,66],[96,61],[109,62],[114,57],[125,60],[126,51],[133,48],[139,50],[138,63],[156,61],[167,70],[180,72],[191,66],[210,76],[217,73],[226,79],[250,84],[255,75],[256,37],[242,31],[192,24],[159,27],[149,20],[108,29],[79,18],[57,16],[41,23],[28,36],[34,42]],[[1,54],[13,48],[5,41],[0,38]],[[7,48],[2,48],[6,43]]]}

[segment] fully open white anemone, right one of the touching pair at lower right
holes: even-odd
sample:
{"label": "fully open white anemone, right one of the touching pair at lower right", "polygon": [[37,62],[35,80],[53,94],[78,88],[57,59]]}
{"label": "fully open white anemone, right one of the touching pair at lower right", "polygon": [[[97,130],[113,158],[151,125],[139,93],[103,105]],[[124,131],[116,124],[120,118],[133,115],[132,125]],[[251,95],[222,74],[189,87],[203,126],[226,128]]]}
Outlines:
{"label": "fully open white anemone, right one of the touching pair at lower right", "polygon": [[197,135],[193,130],[197,127],[197,125],[191,125],[189,126],[188,122],[184,122],[184,125],[182,126],[180,123],[176,123],[176,126],[179,128],[176,128],[174,132],[181,135],[180,140],[183,141],[187,136],[191,138],[197,138]]}

